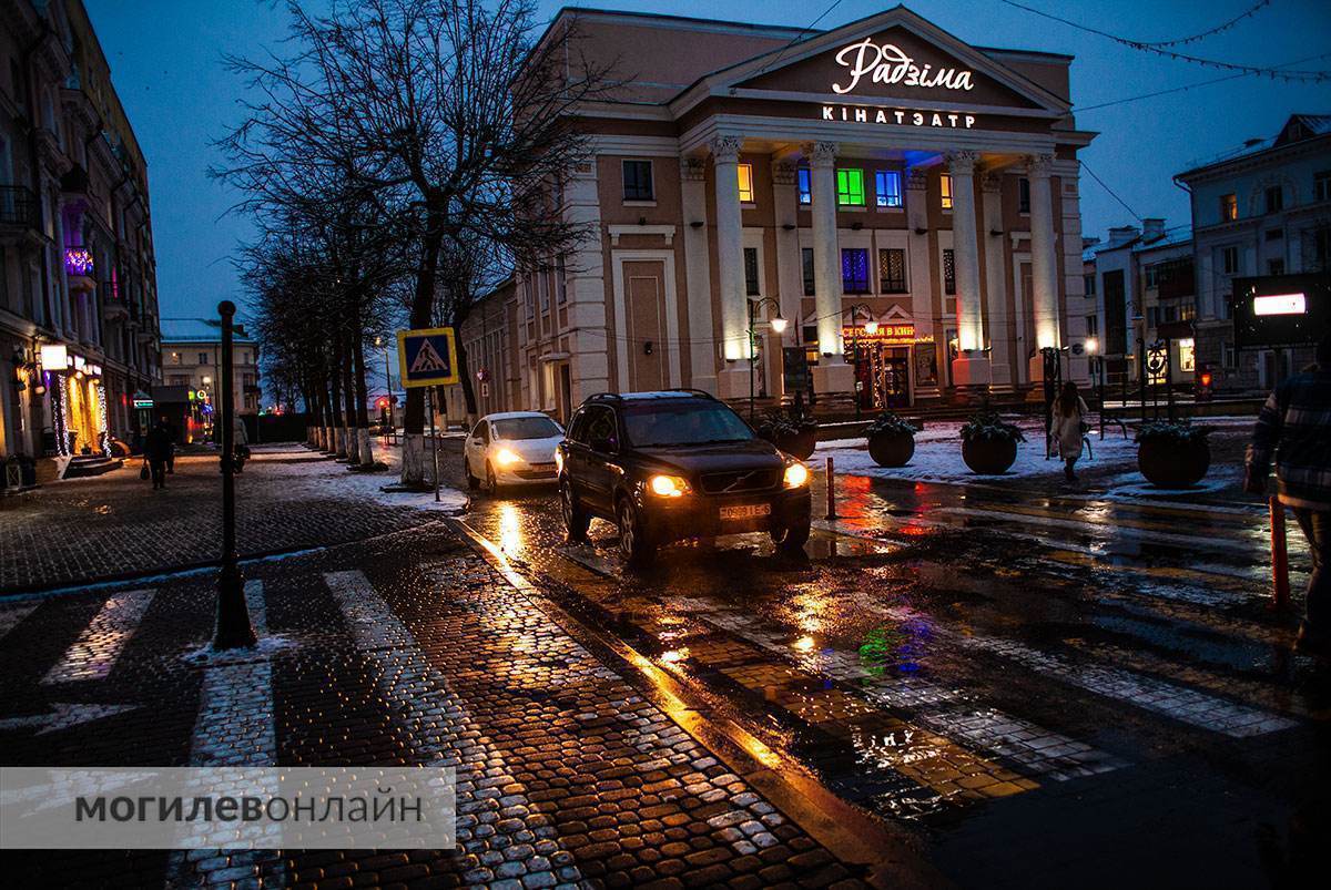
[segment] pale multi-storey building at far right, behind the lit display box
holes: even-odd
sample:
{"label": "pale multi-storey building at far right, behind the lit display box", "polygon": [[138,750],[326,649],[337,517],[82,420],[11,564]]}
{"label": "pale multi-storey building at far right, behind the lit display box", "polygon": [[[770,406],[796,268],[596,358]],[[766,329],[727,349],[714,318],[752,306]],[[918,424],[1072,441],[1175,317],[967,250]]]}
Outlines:
{"label": "pale multi-storey building at far right, behind the lit display box", "polygon": [[1331,271],[1331,114],[1294,114],[1275,137],[1174,180],[1193,204],[1197,361],[1218,392],[1270,390],[1314,350],[1236,350],[1233,281]]}

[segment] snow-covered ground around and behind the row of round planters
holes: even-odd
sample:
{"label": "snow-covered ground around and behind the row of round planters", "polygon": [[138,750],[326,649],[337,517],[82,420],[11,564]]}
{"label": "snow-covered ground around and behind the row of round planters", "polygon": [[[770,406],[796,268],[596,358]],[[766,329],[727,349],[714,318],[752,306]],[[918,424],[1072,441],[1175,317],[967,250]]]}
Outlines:
{"label": "snow-covered ground around and behind the row of round planters", "polygon": [[[1197,420],[1198,426],[1215,426],[1225,430],[1234,430],[1240,426],[1251,426],[1252,418],[1203,418]],[[901,479],[906,482],[980,482],[985,479],[1013,479],[1013,478],[1053,478],[1061,476],[1063,464],[1057,458],[1045,459],[1045,428],[1038,419],[1022,418],[1016,424],[1026,435],[1025,442],[1017,443],[1017,460],[1002,476],[981,476],[970,471],[965,460],[961,459],[961,427],[962,420],[926,422],[925,428],[916,434],[916,451],[905,467],[880,467],[869,456],[868,444],[862,436],[856,439],[833,439],[819,443],[811,462],[821,463],[827,458],[836,462],[836,471],[841,474],[876,476],[880,479]],[[1090,451],[1082,451],[1081,460],[1077,462],[1078,472],[1089,470],[1113,468],[1121,472],[1111,478],[1110,487],[1133,486],[1141,483],[1143,494],[1146,490],[1162,494],[1145,483],[1137,472],[1137,443],[1131,434],[1127,438],[1117,428],[1106,428],[1105,439],[1101,440],[1097,427],[1091,427],[1087,434]],[[1217,474],[1213,468],[1215,486],[1210,484],[1209,476],[1193,492],[1223,487],[1230,483],[1229,478],[1221,479],[1223,474]]]}

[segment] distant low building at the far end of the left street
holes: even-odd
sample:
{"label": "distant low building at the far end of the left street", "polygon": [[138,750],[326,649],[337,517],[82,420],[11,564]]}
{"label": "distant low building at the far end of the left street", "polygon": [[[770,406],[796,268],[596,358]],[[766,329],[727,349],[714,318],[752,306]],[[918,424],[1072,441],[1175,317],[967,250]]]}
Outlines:
{"label": "distant low building at the far end of the left street", "polygon": [[[216,318],[162,319],[162,382],[186,387],[200,406],[198,419],[221,404],[222,326]],[[232,326],[232,398],[237,414],[258,414],[262,399],[258,341],[244,325]],[[206,407],[205,407],[206,406]]]}

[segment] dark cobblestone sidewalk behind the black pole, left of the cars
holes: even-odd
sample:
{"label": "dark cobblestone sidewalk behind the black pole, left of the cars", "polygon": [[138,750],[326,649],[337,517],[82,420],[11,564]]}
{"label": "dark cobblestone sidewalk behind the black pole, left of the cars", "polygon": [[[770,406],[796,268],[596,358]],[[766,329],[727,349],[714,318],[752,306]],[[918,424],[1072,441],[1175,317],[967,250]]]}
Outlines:
{"label": "dark cobblestone sidewalk behind the black pole, left of the cars", "polygon": [[[351,503],[345,466],[299,446],[256,446],[236,478],[241,555],[362,540],[418,524],[429,514]],[[88,479],[0,498],[0,591],[40,589],[214,560],[221,478],[216,454],[176,459],[165,491],[138,479],[138,463]],[[374,476],[378,484],[391,474]],[[371,479],[362,482],[374,484]]]}

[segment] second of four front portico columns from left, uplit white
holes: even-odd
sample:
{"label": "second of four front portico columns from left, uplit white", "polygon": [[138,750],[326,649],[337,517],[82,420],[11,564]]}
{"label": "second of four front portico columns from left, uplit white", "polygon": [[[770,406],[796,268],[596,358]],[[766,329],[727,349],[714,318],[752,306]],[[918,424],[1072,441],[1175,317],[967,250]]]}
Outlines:
{"label": "second of four front portico columns from left, uplit white", "polygon": [[836,142],[815,142],[809,156],[813,192],[813,305],[819,329],[819,366],[813,390],[847,392],[855,386],[855,370],[845,363],[841,346],[841,250],[836,233]]}

